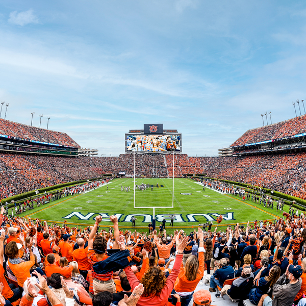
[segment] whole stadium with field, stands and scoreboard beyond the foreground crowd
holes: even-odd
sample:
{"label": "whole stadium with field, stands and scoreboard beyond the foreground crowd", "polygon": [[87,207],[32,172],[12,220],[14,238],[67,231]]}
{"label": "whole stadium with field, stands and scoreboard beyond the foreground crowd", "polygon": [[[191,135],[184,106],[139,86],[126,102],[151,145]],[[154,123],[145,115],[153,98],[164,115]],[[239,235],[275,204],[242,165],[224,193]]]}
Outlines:
{"label": "whole stadium with field, stands and scoreboard beyond the foreground crowd", "polygon": [[273,231],[288,220],[298,227],[306,209],[305,135],[303,115],[248,130],[219,157],[191,157],[177,130],[144,124],[125,133],[125,154],[97,157],[65,133],[0,119],[3,218],[21,226],[47,221],[67,233],[98,220],[107,233],[114,215],[122,233],[144,237],[199,227],[221,239],[229,228]]}

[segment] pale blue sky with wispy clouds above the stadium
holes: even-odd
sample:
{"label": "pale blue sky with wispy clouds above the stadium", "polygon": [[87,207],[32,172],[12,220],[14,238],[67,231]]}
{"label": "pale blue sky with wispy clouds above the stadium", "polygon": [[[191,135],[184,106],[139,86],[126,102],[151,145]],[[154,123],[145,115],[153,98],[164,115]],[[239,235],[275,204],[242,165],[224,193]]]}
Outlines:
{"label": "pale blue sky with wispy clouds above the stadium", "polygon": [[107,156],[144,123],[179,130],[189,156],[216,156],[262,113],[286,120],[306,101],[304,1],[3,0],[0,41],[7,119],[49,116]]}

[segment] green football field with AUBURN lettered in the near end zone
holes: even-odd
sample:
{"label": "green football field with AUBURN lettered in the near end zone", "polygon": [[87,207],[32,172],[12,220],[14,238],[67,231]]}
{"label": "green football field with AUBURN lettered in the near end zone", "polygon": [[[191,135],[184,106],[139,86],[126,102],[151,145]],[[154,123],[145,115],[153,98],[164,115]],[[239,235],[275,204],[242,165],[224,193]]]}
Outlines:
{"label": "green football field with AUBURN lettered in the near end zone", "polygon": [[[189,179],[174,179],[174,208],[163,208],[172,206],[172,179],[136,179],[136,184],[141,183],[154,186],[158,183],[163,186],[154,187],[153,191],[151,188],[143,192],[136,190],[136,207],[144,208],[134,208],[133,179],[124,178],[114,180],[85,194],[50,202],[27,211],[21,216],[56,223],[62,223],[66,219],[68,224],[87,225],[93,224],[94,217],[100,214],[104,220],[100,225],[109,226],[112,223],[108,216],[116,214],[120,228],[131,228],[131,217],[136,215],[136,227],[147,228],[153,215],[152,207],[156,207],[157,226],[165,217],[166,227],[169,228],[168,214],[175,213],[174,228],[184,228],[197,226],[207,221],[213,221],[213,224],[216,224],[215,220],[220,214],[223,215],[220,225],[226,225],[255,219],[274,220],[277,216],[282,217],[283,213],[277,213],[275,207],[271,210],[251,201],[242,201],[242,198],[238,196],[232,197],[208,188],[203,191],[201,185]],[[121,191],[121,185],[130,186],[131,191]],[[289,207],[285,206],[284,209],[288,211]],[[145,216],[139,216],[139,214]]]}

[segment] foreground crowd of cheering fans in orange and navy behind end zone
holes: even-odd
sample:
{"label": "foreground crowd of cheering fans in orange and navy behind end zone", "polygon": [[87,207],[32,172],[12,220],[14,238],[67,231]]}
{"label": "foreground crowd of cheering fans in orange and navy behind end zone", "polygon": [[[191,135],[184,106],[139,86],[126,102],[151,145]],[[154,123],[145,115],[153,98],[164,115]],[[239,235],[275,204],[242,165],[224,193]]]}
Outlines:
{"label": "foreground crowd of cheering fans in orange and navy behind end zone", "polygon": [[306,304],[302,214],[173,234],[151,224],[148,233],[120,231],[116,216],[105,231],[101,219],[68,227],[8,219],[2,208],[1,306]]}

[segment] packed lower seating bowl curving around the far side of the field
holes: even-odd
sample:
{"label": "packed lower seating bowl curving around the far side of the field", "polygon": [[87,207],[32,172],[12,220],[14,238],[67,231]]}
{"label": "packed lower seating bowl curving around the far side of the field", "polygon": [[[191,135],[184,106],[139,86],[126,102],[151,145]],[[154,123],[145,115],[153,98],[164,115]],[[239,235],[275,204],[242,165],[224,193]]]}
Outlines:
{"label": "packed lower seating bowl curving around the far side of the field", "polygon": [[[259,155],[245,157],[188,157],[174,155],[174,176],[191,173],[255,184],[306,198],[306,154]],[[103,174],[134,172],[133,155],[119,157],[51,157],[0,154],[0,197]],[[172,155],[136,155],[138,176],[172,176]]]}

